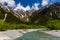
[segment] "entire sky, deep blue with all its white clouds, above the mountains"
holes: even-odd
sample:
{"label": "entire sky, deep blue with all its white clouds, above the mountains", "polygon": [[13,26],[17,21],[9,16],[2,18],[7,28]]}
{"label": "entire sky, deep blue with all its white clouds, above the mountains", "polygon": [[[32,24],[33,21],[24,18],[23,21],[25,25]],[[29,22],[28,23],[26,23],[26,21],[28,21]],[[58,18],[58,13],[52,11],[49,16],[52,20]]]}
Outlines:
{"label": "entire sky, deep blue with all its white clouds, above the mountains", "polygon": [[0,3],[12,7],[14,10],[23,9],[25,11],[30,9],[38,10],[47,4],[55,2],[60,2],[60,0],[0,0]]}

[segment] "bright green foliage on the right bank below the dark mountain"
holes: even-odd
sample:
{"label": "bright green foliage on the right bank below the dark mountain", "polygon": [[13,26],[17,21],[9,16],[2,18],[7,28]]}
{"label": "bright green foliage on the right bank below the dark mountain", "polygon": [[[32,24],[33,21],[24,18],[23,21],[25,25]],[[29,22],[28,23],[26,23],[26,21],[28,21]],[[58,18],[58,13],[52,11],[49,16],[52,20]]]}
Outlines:
{"label": "bright green foliage on the right bank below the dark mountain", "polygon": [[55,30],[60,30],[60,20],[50,20],[47,22],[48,26],[47,28],[49,29],[55,29]]}

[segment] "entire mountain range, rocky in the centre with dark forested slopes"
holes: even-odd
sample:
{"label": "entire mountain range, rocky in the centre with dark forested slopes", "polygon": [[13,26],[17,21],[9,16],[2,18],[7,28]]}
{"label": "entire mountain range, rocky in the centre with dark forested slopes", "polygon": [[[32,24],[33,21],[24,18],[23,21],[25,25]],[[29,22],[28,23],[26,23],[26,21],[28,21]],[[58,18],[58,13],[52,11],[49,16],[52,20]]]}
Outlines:
{"label": "entire mountain range, rocky in the centre with dark forested slopes", "polygon": [[54,3],[46,5],[39,10],[28,10],[23,9],[14,10],[10,7],[6,7],[0,4],[0,19],[6,22],[33,22],[43,23],[48,20],[60,19],[60,3]]}

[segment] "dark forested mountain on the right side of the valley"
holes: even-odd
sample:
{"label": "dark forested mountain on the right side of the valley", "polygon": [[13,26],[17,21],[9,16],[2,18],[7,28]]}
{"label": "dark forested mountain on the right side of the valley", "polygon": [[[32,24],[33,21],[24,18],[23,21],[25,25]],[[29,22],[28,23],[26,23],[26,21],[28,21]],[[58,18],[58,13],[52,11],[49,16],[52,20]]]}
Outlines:
{"label": "dark forested mountain on the right side of the valley", "polygon": [[60,3],[46,5],[35,11],[31,15],[31,21],[35,23],[44,23],[48,20],[60,19]]}

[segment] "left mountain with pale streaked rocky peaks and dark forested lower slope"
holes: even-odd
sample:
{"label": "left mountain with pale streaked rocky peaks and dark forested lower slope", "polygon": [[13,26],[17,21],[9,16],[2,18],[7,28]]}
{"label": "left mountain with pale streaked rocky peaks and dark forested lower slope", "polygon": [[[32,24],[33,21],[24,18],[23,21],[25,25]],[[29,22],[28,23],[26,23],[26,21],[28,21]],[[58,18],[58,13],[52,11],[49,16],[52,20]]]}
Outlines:
{"label": "left mountain with pale streaked rocky peaks and dark forested lower slope", "polygon": [[29,21],[29,17],[31,14],[29,11],[24,11],[23,9],[14,10],[10,7],[6,7],[0,4],[0,19],[6,22],[20,22],[20,21]]}

